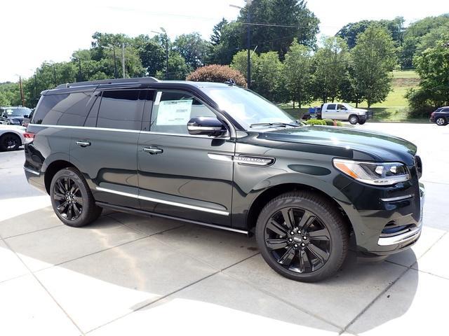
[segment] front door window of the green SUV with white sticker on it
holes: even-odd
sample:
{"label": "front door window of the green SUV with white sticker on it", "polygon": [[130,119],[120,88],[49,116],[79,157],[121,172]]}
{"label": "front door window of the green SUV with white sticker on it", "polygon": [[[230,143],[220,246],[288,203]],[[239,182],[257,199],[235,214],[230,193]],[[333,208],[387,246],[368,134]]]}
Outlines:
{"label": "front door window of the green SUV with white sticker on it", "polygon": [[215,117],[215,113],[187,92],[159,91],[153,103],[150,130],[189,134],[187,123],[194,117]]}

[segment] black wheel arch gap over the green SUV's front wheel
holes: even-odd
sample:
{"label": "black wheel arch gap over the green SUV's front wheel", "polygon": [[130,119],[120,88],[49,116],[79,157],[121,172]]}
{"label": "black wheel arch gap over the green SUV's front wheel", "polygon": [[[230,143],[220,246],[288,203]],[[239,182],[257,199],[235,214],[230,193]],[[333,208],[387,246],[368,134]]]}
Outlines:
{"label": "black wheel arch gap over the green SUV's front wheel", "polygon": [[322,188],[317,188],[317,186],[311,186],[310,184],[298,183],[298,182],[288,182],[288,183],[279,183],[275,186],[271,186],[264,190],[262,193],[257,195],[248,209],[248,214],[246,216],[246,226],[248,228],[248,232],[255,228],[257,223],[257,218],[262,211],[263,207],[274,197],[278,197],[283,193],[288,193],[296,190],[306,190],[311,193],[316,193],[321,197],[325,198],[330,202],[330,204],[337,209],[345,223],[347,223],[347,228],[350,232],[354,232],[354,226],[351,223],[351,220],[347,214],[347,211],[343,209],[339,202],[335,200],[334,197],[330,196],[328,193],[322,190]]}

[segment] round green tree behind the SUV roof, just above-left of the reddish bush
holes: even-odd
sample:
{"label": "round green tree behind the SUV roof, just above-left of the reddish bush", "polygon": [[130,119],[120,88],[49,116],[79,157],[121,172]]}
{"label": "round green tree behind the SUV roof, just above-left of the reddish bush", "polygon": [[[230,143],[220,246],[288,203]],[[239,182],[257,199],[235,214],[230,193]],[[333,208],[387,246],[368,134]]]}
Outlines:
{"label": "round green tree behind the SUV roof, just above-left of the reddish bush", "polygon": [[203,40],[199,33],[181,34],[173,42],[173,48],[192,69],[203,66],[209,49],[208,41]]}

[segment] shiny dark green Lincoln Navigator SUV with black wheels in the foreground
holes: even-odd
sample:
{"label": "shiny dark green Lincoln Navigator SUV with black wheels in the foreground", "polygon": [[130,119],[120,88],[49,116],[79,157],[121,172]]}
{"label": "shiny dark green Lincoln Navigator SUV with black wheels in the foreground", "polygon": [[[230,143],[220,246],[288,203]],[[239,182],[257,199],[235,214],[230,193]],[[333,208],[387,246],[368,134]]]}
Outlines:
{"label": "shiny dark green Lincoln Navigator SUV with black wheels in the foreground", "polygon": [[[416,146],[385,134],[304,126],[225,83],[99,80],[42,92],[25,174],[66,225],[102,208],[250,235],[290,279],[318,281],[346,258],[420,237]],[[145,255],[142,255],[145,258]]]}

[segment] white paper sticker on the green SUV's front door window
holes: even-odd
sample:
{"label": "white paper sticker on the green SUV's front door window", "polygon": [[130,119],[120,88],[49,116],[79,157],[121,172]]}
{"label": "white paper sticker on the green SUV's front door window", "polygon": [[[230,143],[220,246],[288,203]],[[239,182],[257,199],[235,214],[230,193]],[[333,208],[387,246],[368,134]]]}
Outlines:
{"label": "white paper sticker on the green SUV's front door window", "polygon": [[159,102],[156,125],[187,125],[192,113],[192,102],[193,99]]}

